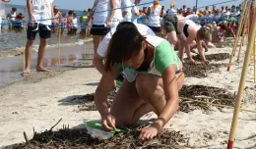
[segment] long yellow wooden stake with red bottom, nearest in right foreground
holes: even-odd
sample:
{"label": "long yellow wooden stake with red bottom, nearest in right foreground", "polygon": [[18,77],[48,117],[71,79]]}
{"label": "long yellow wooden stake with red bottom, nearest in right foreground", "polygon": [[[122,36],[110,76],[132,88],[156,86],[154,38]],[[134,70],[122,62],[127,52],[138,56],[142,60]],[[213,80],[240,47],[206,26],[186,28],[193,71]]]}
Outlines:
{"label": "long yellow wooden stake with red bottom, nearest in right foreground", "polygon": [[[254,0],[254,2],[256,2],[256,0]],[[255,8],[254,8],[254,13],[256,13]],[[236,129],[239,111],[240,111],[240,107],[241,107],[241,101],[242,101],[242,96],[243,96],[243,92],[244,92],[246,75],[247,75],[248,67],[249,67],[249,63],[250,63],[251,51],[254,48],[254,43],[255,43],[255,41],[254,41],[255,35],[256,35],[256,15],[254,15],[254,17],[253,17],[252,28],[250,31],[251,38],[249,39],[249,43],[248,43],[247,51],[246,51],[246,55],[245,55],[245,60],[244,60],[244,64],[243,64],[236,105],[235,105],[235,109],[234,109],[234,113],[233,113],[233,119],[232,119],[232,124],[231,124],[231,128],[230,128],[229,139],[228,139],[228,143],[227,143],[227,149],[232,149],[232,147],[233,147],[233,141],[234,141],[234,137],[235,137],[235,129]]]}

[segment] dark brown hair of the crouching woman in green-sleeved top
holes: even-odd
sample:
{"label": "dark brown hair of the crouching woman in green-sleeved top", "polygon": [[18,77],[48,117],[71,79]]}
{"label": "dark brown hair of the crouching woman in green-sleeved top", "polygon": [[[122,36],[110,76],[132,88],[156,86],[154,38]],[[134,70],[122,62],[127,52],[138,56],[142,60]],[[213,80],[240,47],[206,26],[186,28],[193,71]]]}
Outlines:
{"label": "dark brown hair of the crouching woman in green-sleeved top", "polygon": [[128,61],[139,54],[144,40],[134,26],[118,28],[107,48],[105,70],[109,71],[116,63]]}

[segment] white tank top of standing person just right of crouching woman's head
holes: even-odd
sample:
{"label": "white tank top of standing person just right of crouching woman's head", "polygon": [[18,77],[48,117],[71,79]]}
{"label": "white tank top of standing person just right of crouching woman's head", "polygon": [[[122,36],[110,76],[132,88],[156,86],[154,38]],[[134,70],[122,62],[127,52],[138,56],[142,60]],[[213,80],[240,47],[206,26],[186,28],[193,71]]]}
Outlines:
{"label": "white tank top of standing person just right of crouching woman's head", "polygon": [[161,6],[157,6],[157,8],[154,10],[154,6],[151,6],[151,15],[149,17],[149,23],[150,26],[160,26],[160,9]]}

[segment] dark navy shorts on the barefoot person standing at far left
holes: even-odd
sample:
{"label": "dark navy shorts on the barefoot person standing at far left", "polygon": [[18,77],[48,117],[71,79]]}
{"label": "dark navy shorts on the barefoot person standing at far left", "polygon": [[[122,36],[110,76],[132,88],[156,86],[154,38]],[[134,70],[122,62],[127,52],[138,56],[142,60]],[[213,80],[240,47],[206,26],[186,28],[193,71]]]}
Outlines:
{"label": "dark navy shorts on the barefoot person standing at far left", "polygon": [[34,40],[36,33],[39,31],[39,36],[40,38],[50,38],[51,37],[51,30],[48,29],[48,27],[46,25],[38,25],[38,29],[35,30],[37,28],[37,24],[32,25],[28,25],[28,30],[27,30],[27,38],[29,40]]}

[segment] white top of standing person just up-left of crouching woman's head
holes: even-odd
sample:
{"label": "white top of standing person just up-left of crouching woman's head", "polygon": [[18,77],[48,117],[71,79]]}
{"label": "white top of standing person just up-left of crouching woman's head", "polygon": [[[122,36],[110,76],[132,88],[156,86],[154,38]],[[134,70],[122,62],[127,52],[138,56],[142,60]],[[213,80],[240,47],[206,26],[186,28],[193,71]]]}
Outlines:
{"label": "white top of standing person just up-left of crouching woman's head", "polygon": [[109,0],[98,0],[95,10],[94,25],[105,25],[109,16],[110,1]]}

